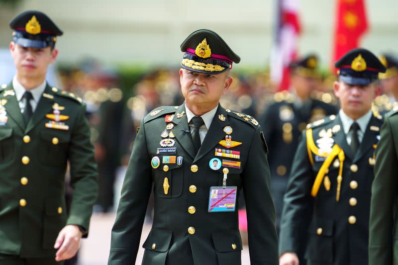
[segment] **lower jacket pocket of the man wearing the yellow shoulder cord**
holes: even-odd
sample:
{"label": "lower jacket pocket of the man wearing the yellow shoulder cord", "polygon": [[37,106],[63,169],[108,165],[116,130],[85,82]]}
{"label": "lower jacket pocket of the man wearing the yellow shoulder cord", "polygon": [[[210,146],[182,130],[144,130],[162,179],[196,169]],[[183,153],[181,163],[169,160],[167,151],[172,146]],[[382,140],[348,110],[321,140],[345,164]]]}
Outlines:
{"label": "lower jacket pocket of the man wearing the yellow shoulder cord", "polygon": [[333,263],[333,220],[313,219],[308,228],[308,258],[311,262]]}

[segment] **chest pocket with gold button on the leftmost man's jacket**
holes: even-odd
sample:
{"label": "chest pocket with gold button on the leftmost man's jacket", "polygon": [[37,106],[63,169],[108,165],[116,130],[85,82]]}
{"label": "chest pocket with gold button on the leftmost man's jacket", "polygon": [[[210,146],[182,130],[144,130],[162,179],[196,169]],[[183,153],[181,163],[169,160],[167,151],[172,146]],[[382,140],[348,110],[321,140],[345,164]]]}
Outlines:
{"label": "chest pocket with gold button on the leftmost man's jacket", "polygon": [[68,132],[40,132],[39,162],[47,166],[65,166],[69,141]]}

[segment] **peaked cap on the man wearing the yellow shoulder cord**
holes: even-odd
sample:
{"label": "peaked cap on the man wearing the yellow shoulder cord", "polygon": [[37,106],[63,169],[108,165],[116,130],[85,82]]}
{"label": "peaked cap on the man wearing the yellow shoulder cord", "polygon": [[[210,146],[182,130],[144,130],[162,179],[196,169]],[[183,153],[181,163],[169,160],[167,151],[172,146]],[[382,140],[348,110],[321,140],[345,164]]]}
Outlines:
{"label": "peaked cap on the man wearing the yellow shoulder cord", "polygon": [[339,69],[340,80],[350,85],[368,85],[386,71],[380,60],[363,48],[349,51],[334,66]]}

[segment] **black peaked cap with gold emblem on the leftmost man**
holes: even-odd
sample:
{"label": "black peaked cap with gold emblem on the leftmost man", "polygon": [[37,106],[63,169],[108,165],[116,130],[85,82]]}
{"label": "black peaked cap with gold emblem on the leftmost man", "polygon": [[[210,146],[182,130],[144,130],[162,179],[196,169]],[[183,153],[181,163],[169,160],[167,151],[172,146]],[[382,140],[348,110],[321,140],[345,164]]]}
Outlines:
{"label": "black peaked cap with gold emblem on the leftmost man", "polygon": [[12,33],[13,42],[30,48],[45,48],[54,46],[57,41],[56,36],[61,36],[63,32],[54,22],[43,12],[27,10],[9,22],[9,26],[14,30]]}

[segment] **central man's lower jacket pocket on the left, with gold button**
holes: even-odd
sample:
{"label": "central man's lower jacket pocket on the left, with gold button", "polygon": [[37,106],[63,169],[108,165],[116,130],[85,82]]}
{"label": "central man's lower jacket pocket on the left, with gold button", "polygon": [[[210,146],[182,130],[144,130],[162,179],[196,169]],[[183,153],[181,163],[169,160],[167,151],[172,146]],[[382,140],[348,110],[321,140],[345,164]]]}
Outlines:
{"label": "central man's lower jacket pocket on the left, with gold button", "polygon": [[142,247],[145,249],[142,264],[165,264],[173,232],[152,229]]}

